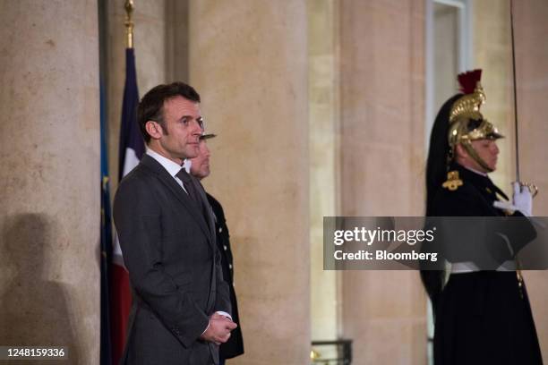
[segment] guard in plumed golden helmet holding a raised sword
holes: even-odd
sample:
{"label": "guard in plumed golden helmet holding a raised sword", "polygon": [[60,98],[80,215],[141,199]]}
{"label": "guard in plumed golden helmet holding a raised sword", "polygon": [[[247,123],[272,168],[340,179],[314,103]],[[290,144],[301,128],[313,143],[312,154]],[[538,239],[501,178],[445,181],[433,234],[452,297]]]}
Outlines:
{"label": "guard in plumed golden helmet holding a raised sword", "polygon": [[[480,79],[481,70],[460,74],[463,93],[446,101],[432,127],[426,216],[531,216],[531,191],[519,183],[506,204],[515,210],[499,208],[508,198],[487,174],[496,168],[502,135],[479,111]],[[534,238],[522,220],[522,235]],[[435,365],[542,364],[526,287],[516,261],[508,262],[489,271],[451,262],[450,273],[421,273],[434,310]]]}

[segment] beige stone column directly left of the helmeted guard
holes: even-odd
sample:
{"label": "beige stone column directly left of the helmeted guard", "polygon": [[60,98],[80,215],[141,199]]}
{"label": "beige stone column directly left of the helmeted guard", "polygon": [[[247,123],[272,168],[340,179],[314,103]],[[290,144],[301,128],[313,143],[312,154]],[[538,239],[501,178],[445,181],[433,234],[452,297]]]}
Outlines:
{"label": "beige stone column directly left of the helmeted guard", "polygon": [[[341,2],[344,216],[424,214],[424,2]],[[426,298],[415,271],[343,273],[353,364],[426,362]]]}

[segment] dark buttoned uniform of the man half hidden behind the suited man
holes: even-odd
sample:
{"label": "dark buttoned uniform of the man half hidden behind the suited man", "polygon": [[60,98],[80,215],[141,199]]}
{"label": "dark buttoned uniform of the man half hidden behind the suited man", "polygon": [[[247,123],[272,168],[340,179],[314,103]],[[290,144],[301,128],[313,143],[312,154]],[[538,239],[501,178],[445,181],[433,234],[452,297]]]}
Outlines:
{"label": "dark buttoned uniform of the man half hidden behind the suited man", "polygon": [[237,323],[226,344],[221,344],[219,355],[221,359],[231,359],[244,353],[244,339],[242,338],[242,327],[240,327],[240,318],[238,315],[238,304],[234,290],[234,267],[232,260],[232,250],[230,250],[230,234],[228,233],[227,220],[223,207],[210,194],[206,193],[210,201],[211,208],[215,214],[215,232],[217,234],[217,246],[221,253],[221,267],[223,268],[223,277],[228,283],[230,290],[230,303],[232,305],[232,319]]}

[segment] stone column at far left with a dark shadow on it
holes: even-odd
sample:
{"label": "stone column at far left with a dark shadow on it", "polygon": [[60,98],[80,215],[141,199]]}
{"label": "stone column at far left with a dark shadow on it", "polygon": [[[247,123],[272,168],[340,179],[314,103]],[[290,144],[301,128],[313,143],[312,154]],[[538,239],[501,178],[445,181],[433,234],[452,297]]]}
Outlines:
{"label": "stone column at far left with a dark shadow on it", "polygon": [[0,344],[97,364],[98,5],[0,8]]}

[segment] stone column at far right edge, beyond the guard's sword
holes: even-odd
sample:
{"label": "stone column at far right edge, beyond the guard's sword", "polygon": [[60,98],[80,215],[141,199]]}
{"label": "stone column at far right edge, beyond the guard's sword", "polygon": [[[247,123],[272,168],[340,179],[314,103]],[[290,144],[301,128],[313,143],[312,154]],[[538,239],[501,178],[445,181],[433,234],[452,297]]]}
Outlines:
{"label": "stone column at far right edge, beyond the guard's sword", "polygon": [[[540,190],[534,199],[535,216],[548,216],[548,3],[514,4],[521,180],[535,183]],[[548,362],[548,272],[527,271],[525,277],[541,351]]]}

